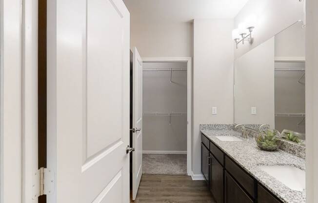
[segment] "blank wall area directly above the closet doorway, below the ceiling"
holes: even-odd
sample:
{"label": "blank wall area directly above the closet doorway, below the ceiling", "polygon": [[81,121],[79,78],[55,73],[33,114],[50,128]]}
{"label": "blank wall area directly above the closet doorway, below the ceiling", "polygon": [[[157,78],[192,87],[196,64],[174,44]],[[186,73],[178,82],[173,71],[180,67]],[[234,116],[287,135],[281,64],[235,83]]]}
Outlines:
{"label": "blank wall area directly above the closet doorway, below the ceiling", "polygon": [[141,57],[192,57],[192,22],[130,22],[130,47]]}

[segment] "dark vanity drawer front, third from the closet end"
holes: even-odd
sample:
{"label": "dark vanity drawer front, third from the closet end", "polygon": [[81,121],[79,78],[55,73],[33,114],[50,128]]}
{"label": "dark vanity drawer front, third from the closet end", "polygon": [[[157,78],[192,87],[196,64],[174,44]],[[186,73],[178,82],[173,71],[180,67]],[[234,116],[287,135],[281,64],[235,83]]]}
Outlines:
{"label": "dark vanity drawer front, third from the closet end", "polygon": [[225,157],[225,169],[242,185],[249,195],[255,198],[254,180],[244,170],[228,157]]}

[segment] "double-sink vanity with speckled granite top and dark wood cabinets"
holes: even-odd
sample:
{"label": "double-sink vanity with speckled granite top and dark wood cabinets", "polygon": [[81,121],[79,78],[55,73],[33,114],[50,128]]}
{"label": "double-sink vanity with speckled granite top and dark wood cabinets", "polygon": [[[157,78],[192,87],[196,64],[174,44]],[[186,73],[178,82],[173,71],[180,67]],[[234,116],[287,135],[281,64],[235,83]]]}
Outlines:
{"label": "double-sink vanity with speckled granite top and dark wood cabinets", "polygon": [[[201,169],[216,202],[305,203],[305,160],[282,150],[262,151],[253,138],[240,135],[233,125],[201,126]],[[271,167],[277,173],[271,174]]]}

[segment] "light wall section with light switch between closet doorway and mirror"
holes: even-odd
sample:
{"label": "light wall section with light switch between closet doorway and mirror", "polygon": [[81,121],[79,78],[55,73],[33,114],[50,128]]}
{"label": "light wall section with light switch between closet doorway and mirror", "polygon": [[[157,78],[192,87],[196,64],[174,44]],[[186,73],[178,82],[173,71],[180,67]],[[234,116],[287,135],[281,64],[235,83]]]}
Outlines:
{"label": "light wall section with light switch between closet doorway and mirror", "polygon": [[[202,123],[233,123],[233,20],[194,20],[192,170],[200,174]],[[218,114],[212,115],[212,107]]]}

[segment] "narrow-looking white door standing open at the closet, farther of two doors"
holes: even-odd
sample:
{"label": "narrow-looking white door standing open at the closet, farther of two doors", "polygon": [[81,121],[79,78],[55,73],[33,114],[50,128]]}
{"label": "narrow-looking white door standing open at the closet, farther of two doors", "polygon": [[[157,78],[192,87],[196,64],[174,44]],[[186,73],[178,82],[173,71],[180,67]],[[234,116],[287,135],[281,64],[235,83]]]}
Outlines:
{"label": "narrow-looking white door standing open at the closet, farther of two doors", "polygon": [[133,200],[136,200],[142,176],[142,60],[133,50]]}

